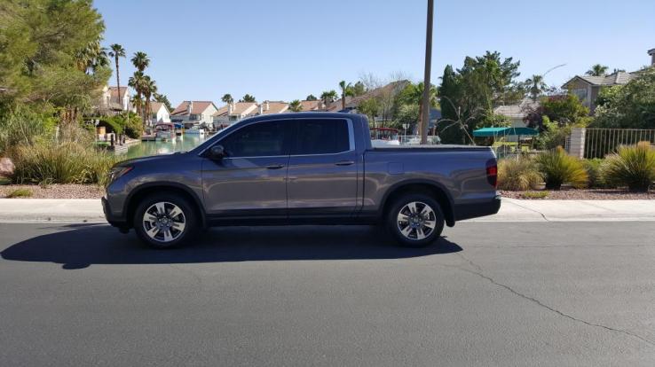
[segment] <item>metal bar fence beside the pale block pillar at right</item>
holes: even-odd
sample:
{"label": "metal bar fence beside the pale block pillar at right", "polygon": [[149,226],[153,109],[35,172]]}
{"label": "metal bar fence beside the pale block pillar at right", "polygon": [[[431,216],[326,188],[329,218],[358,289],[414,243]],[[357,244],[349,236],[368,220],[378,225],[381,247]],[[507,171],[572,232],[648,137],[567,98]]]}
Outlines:
{"label": "metal bar fence beside the pale block pillar at right", "polygon": [[604,158],[616,152],[619,145],[635,145],[639,142],[655,144],[655,129],[586,129],[585,158]]}

